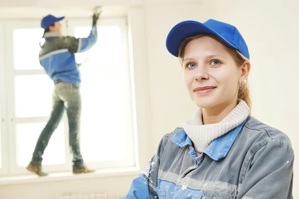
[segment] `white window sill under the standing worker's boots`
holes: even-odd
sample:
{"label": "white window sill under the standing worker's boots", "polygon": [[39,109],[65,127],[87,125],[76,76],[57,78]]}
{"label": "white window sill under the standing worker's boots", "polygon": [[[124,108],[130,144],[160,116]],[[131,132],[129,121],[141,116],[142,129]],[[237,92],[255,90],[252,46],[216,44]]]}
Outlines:
{"label": "white window sill under the standing worker's boots", "polygon": [[28,183],[43,183],[55,181],[69,181],[69,180],[85,180],[104,177],[121,177],[130,175],[139,175],[140,170],[137,167],[122,168],[122,169],[106,169],[97,170],[95,173],[73,175],[68,173],[50,173],[46,177],[38,177],[35,175],[27,176],[13,176],[1,177],[0,185],[15,185],[15,184],[28,184]]}

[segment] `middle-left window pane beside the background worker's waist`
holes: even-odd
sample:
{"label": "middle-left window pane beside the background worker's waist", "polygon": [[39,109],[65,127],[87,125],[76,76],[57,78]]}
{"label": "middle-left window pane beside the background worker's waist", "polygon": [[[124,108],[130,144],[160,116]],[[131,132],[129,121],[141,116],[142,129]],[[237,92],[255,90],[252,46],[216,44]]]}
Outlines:
{"label": "middle-left window pane beside the background worker's waist", "polygon": [[16,117],[47,116],[51,111],[53,82],[47,75],[15,77]]}

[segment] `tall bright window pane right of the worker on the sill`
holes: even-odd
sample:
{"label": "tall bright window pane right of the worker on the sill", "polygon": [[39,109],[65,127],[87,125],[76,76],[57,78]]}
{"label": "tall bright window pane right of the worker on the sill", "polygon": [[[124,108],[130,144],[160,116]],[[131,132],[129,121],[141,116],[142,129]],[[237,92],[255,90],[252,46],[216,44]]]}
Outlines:
{"label": "tall bright window pane right of the worker on the sill", "polygon": [[[88,36],[91,28],[75,28],[76,37]],[[128,154],[126,136],[131,112],[129,82],[123,73],[121,32],[117,26],[98,28],[97,44],[76,54],[82,66],[81,151],[86,162],[121,160]],[[133,132],[132,132],[133,133]],[[105,153],[104,153],[105,151]],[[99,152],[99,153],[98,153]]]}

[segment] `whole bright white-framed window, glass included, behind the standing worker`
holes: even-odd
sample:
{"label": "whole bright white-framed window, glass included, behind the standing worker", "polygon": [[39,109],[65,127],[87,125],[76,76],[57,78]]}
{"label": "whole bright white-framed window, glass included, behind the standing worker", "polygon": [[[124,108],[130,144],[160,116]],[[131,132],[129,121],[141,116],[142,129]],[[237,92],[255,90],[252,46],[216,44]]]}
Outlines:
{"label": "whole bright white-framed window, glass included, behind the standing worker", "polygon": [[[76,37],[87,37],[91,30],[89,24],[89,20],[69,19],[67,31]],[[5,56],[0,55],[5,58],[6,66],[3,83],[12,84],[5,86],[9,92],[3,91],[5,96],[0,101],[0,107],[7,106],[0,110],[6,118],[0,136],[9,142],[3,146],[2,141],[0,145],[1,155],[8,157],[7,161],[3,162],[4,158],[0,161],[6,168],[0,175],[18,175],[27,173],[24,167],[49,118],[53,82],[38,61],[43,34],[39,21],[9,21],[3,27],[7,49]],[[86,58],[89,62],[80,67],[80,148],[84,161],[94,169],[135,166],[125,19],[100,20],[97,44],[87,52],[76,54],[77,63]],[[42,164],[46,172],[71,168],[66,114],[50,139]]]}

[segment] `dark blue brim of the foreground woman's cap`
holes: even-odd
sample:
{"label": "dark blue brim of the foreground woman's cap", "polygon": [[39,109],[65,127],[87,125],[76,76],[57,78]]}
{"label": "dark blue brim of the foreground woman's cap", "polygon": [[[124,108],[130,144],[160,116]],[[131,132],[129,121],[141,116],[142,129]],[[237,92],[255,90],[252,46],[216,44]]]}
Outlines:
{"label": "dark blue brim of the foreground woman's cap", "polygon": [[170,54],[178,57],[178,49],[181,43],[189,37],[199,34],[214,34],[229,46],[236,48],[231,42],[220,36],[217,32],[198,21],[182,21],[176,24],[168,33],[166,39],[166,48]]}

